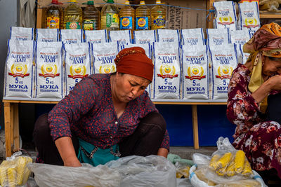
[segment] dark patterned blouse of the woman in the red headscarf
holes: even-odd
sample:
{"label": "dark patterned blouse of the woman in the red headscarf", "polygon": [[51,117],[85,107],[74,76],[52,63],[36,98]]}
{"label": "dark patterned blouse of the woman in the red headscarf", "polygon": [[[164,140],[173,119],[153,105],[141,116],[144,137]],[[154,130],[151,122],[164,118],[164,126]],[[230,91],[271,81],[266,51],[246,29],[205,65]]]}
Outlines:
{"label": "dark patterned blouse of the woman in the red headscarf", "polygon": [[[112,102],[110,74],[93,74],[83,78],[48,114],[53,141],[59,137],[77,137],[100,148],[118,144],[133,134],[141,118],[157,111],[148,92],[131,100],[117,118]],[[166,131],[162,148],[169,150]]]}

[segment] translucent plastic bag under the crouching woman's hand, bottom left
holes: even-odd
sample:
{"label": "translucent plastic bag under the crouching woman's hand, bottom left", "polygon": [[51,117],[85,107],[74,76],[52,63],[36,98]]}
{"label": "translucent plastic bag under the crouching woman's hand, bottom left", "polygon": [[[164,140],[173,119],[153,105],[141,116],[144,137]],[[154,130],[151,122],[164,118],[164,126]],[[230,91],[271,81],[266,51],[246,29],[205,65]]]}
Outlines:
{"label": "translucent plastic bag under the crouching woman's hand, bottom left", "polygon": [[65,167],[30,163],[27,165],[34,172],[34,179],[38,186],[95,186],[118,187],[120,174],[105,165],[93,167],[82,164],[82,167]]}

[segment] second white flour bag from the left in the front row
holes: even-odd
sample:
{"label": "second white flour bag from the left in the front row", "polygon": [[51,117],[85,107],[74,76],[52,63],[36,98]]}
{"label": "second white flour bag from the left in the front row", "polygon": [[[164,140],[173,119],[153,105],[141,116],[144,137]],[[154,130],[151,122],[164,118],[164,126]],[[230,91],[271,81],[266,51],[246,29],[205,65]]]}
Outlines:
{"label": "second white flour bag from the left in the front row", "polygon": [[62,42],[37,42],[35,97],[63,98]]}

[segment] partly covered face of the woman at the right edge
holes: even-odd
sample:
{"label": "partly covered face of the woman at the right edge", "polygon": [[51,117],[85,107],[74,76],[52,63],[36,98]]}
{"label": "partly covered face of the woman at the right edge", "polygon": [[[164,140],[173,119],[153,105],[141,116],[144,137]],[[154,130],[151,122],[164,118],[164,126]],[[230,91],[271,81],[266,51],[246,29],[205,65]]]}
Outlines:
{"label": "partly covered face of the woman at the right edge", "polygon": [[281,58],[263,56],[263,75],[281,74]]}

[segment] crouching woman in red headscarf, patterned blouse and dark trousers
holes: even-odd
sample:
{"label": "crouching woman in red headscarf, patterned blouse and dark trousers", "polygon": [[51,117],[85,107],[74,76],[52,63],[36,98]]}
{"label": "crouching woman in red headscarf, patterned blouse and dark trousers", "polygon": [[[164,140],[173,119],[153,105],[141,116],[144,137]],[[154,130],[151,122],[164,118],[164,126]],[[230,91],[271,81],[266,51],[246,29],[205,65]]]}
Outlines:
{"label": "crouching woman in red headscarf, patterned blouse and dark trousers", "polygon": [[[121,50],[117,72],[83,78],[34,127],[37,162],[72,167],[169,150],[166,123],[145,88],[153,64],[143,48]],[[47,121],[48,118],[48,121]]]}

